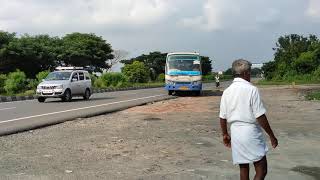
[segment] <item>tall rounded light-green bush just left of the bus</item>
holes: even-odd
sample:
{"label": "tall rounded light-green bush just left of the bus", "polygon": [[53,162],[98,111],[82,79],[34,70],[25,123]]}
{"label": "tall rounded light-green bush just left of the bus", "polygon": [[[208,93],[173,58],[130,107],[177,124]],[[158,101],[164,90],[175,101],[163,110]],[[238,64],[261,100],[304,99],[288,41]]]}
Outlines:
{"label": "tall rounded light-green bush just left of the bus", "polygon": [[122,68],[123,74],[132,83],[146,83],[149,81],[150,71],[143,62],[134,61]]}

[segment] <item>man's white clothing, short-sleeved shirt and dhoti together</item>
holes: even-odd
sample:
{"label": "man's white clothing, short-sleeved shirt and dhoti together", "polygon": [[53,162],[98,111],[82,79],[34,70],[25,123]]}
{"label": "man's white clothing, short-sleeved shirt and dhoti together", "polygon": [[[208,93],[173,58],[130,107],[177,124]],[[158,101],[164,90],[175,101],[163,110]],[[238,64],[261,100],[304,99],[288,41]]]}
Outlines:
{"label": "man's white clothing, short-sleeved shirt and dhoti together", "polygon": [[248,81],[235,78],[223,92],[219,117],[231,124],[234,164],[253,163],[266,155],[268,147],[256,120],[265,113],[258,89]]}

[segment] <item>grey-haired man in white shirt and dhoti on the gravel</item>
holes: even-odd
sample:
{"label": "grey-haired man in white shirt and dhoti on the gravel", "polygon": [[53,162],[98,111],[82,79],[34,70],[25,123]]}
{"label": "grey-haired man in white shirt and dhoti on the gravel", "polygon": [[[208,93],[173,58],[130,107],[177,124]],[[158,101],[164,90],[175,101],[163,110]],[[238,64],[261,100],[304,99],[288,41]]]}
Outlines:
{"label": "grey-haired man in white shirt and dhoti on the gravel", "polygon": [[[254,179],[263,180],[267,175],[268,147],[262,128],[269,135],[273,148],[277,147],[278,140],[268,123],[259,91],[250,83],[251,63],[236,60],[232,70],[235,78],[223,92],[220,103],[223,143],[232,148],[233,164],[239,165],[241,180],[249,180],[249,163],[253,163],[256,170]],[[227,122],[231,124],[231,137]]]}

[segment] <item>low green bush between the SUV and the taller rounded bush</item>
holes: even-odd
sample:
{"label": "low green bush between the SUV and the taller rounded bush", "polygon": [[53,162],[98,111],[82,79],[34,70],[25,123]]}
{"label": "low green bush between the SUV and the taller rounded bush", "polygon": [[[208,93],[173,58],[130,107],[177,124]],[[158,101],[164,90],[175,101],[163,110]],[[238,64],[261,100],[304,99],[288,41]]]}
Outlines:
{"label": "low green bush between the SUV and the taller rounded bush", "polygon": [[127,82],[122,73],[105,73],[100,78],[106,87],[119,87]]}

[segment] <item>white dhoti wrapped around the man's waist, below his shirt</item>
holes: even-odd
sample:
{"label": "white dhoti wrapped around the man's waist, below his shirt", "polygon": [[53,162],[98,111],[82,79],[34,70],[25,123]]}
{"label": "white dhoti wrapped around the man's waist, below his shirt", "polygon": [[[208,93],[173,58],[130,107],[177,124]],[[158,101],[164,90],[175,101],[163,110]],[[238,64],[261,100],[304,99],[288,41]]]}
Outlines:
{"label": "white dhoti wrapped around the man's waist, below his shirt", "polygon": [[262,129],[257,124],[231,124],[233,164],[248,164],[261,160],[268,152]]}

